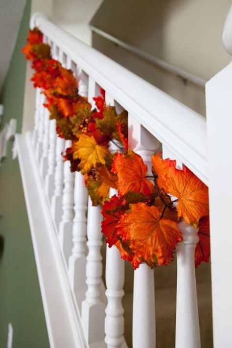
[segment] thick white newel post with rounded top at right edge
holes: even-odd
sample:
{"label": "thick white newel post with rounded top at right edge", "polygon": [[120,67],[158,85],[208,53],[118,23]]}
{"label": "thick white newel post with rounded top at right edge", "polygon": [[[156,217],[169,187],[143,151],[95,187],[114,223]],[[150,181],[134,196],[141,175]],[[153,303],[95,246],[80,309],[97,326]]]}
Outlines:
{"label": "thick white newel post with rounded top at right edge", "polygon": [[[223,43],[232,55],[232,7]],[[215,53],[216,54],[216,53]],[[232,345],[232,63],[206,84],[213,347]]]}

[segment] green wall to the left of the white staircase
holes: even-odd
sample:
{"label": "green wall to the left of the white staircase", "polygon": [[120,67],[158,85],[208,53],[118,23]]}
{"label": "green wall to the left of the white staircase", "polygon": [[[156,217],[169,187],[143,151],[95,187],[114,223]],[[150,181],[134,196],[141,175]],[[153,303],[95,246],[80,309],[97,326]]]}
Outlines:
{"label": "green wall to the left of the white staircase", "polygon": [[[17,119],[21,131],[26,62],[21,53],[29,27],[27,0],[18,38],[1,93],[3,121]],[[7,346],[8,323],[13,326],[13,348],[49,347],[36,264],[27,219],[18,160],[12,143],[0,166],[0,348]]]}

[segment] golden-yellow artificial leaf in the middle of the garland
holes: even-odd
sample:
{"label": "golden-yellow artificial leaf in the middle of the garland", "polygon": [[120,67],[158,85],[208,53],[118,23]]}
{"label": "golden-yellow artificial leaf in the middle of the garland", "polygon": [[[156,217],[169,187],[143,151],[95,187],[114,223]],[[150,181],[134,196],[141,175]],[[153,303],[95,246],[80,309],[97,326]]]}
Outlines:
{"label": "golden-yellow artificial leaf in the middle of the garland", "polygon": [[109,153],[104,145],[98,145],[93,136],[81,134],[78,141],[73,141],[73,158],[79,158],[81,172],[88,173],[98,163],[105,164],[105,156]]}

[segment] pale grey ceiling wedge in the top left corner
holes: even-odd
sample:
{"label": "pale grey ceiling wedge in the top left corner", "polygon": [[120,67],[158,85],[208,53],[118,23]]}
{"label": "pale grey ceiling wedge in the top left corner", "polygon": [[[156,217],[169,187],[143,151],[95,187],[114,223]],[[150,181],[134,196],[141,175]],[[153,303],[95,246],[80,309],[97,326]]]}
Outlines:
{"label": "pale grey ceiling wedge in the top left corner", "polygon": [[25,0],[0,0],[0,91],[5,79]]}

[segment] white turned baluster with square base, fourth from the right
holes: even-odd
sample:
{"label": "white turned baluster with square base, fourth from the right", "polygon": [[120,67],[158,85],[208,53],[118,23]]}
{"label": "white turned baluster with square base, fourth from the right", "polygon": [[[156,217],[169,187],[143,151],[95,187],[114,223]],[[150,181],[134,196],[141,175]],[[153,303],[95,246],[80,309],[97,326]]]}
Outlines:
{"label": "white turned baluster with square base, fourth from the right", "polygon": [[87,246],[89,253],[86,266],[86,283],[88,290],[86,298],[82,302],[82,324],[86,340],[89,344],[99,342],[99,348],[102,347],[104,340],[104,319],[105,304],[101,300],[102,283],[102,233],[100,207],[92,206],[91,198],[88,202],[88,225],[87,225]]}

